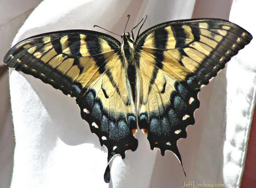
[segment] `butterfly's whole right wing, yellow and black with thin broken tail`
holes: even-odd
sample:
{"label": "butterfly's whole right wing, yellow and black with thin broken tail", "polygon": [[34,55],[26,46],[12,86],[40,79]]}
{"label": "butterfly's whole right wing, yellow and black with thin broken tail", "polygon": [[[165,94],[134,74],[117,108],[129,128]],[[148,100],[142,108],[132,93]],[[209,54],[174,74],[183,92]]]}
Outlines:
{"label": "butterfly's whole right wing, yellow and black with thin broken tail", "polygon": [[251,39],[241,27],[218,19],[166,22],[136,39],[138,122],[151,149],[173,151],[181,162],[177,141],[195,123],[197,93]]}

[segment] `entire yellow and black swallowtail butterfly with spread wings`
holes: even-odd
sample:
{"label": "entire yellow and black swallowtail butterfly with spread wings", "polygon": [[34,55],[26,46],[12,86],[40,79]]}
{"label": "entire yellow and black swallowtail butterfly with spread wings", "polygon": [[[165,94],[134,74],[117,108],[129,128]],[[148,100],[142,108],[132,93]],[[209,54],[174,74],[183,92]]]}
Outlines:
{"label": "entire yellow and black swallowtail butterfly with spread wings", "polygon": [[122,43],[97,31],[56,31],[23,40],[4,57],[10,68],[76,99],[81,117],[108,149],[107,183],[113,156],[124,159],[125,151],[137,149],[137,125],[152,150],[162,156],[170,150],[182,165],[177,141],[195,123],[200,88],[252,39],[221,19],[165,22],[139,35],[144,22],[136,38],[124,32]]}

